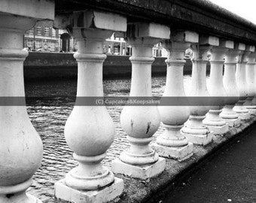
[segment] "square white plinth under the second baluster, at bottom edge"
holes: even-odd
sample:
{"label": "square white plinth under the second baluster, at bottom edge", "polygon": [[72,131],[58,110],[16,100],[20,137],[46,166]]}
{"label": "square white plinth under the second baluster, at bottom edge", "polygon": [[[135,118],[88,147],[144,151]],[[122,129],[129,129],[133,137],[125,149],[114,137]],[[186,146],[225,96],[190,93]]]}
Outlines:
{"label": "square white plinth under the second baluster, at bottom edge", "polygon": [[65,180],[59,180],[54,185],[55,196],[58,199],[62,199],[74,203],[82,202],[108,202],[117,199],[123,192],[123,180],[114,177],[114,182],[109,186],[105,186],[99,190],[78,190],[73,189],[66,185]]}

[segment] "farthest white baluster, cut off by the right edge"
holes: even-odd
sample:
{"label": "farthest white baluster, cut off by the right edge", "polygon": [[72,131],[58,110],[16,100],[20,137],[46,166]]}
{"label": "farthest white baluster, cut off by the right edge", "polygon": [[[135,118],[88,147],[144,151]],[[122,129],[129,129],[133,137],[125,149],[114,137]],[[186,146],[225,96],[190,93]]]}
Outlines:
{"label": "farthest white baluster, cut off by the right edge", "polygon": [[245,67],[245,77],[247,82],[247,93],[248,97],[245,100],[244,106],[248,109],[249,113],[251,115],[256,115],[256,104],[252,103],[252,100],[254,98],[254,95],[256,95],[256,84],[254,83],[254,65],[255,63],[255,57],[256,53],[254,46],[248,46],[248,50],[250,50],[250,53],[247,57],[247,64]]}

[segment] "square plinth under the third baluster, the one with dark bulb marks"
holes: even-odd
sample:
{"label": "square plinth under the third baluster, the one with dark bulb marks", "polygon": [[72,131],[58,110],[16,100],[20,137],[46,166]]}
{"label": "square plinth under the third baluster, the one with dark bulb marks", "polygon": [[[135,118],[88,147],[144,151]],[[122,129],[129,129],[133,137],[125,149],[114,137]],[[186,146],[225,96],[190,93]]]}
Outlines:
{"label": "square plinth under the third baluster, the one with dark bulb marks", "polygon": [[113,171],[114,174],[124,174],[130,177],[146,180],[161,174],[165,166],[166,159],[162,157],[159,157],[157,162],[148,165],[130,165],[122,162],[120,159],[115,159],[112,162],[111,171]]}

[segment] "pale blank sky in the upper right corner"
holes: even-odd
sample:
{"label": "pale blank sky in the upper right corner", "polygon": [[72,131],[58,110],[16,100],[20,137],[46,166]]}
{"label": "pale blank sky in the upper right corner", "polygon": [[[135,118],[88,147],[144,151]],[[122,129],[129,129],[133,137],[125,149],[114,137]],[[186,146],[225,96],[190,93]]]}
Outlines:
{"label": "pale blank sky in the upper right corner", "polygon": [[255,0],[209,0],[216,5],[251,21],[256,25],[256,1]]}

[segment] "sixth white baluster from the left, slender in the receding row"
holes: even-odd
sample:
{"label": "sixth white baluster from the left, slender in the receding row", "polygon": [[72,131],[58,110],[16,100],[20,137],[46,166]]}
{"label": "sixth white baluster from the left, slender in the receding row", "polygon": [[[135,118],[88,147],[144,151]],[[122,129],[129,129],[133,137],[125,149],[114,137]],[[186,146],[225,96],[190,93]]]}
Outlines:
{"label": "sixth white baluster from the left, slender in the receding row", "polygon": [[[216,42],[219,39],[215,38]],[[227,96],[224,86],[223,86],[223,65],[224,65],[224,53],[227,52],[227,48],[233,47],[233,42],[226,41],[223,46],[212,47],[211,56],[211,73],[209,78],[209,94],[211,97],[220,97],[221,99],[216,100],[215,105],[211,106],[208,114],[206,114],[206,119],[203,123],[208,126],[209,130],[215,135],[223,135],[228,132],[229,125],[220,117],[222,108],[224,106],[224,97]]]}

